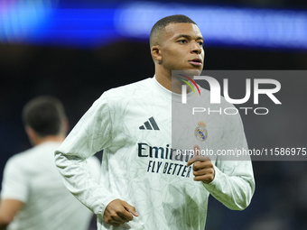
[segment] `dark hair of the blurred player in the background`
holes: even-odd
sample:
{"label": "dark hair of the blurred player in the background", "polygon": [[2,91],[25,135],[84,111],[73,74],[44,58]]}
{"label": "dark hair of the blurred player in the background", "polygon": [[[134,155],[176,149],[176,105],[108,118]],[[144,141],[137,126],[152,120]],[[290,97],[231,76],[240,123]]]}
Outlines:
{"label": "dark hair of the blurred player in the background", "polygon": [[23,107],[23,124],[41,137],[59,134],[65,117],[60,100],[52,96],[35,97]]}

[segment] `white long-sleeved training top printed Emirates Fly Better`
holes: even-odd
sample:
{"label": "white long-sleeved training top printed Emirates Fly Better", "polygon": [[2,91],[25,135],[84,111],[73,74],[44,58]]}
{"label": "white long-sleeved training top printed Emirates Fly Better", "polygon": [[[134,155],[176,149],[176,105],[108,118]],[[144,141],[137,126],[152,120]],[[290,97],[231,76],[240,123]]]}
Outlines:
{"label": "white long-sleeved training top printed Emirates Fly Better", "polygon": [[[209,94],[205,89],[201,93]],[[155,78],[110,89],[57,150],[56,165],[67,188],[98,215],[98,230],[203,230],[209,193],[231,209],[244,209],[250,203],[255,189],[251,161],[214,158],[215,179],[204,184],[193,180],[191,166],[186,167],[184,159],[175,157],[172,102],[179,103],[179,97],[172,98],[172,92]],[[221,106],[229,105],[222,101]],[[239,115],[200,115],[199,119],[209,133],[205,142],[198,143],[200,149],[247,149]],[[194,134],[189,138],[197,141]],[[97,184],[84,162],[100,150],[104,153]],[[116,198],[134,206],[139,216],[119,227],[107,225],[105,208]]]}

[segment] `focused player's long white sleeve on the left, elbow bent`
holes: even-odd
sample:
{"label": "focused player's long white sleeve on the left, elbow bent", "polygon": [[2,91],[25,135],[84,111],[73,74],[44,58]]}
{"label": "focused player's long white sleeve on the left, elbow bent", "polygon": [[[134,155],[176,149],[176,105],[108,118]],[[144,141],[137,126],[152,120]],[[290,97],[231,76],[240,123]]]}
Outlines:
{"label": "focused player's long white sleeve on the left, elbow bent", "polygon": [[58,167],[67,189],[96,215],[102,215],[112,200],[104,182],[97,183],[87,166],[87,159],[112,143],[112,120],[107,97],[102,95],[81,117],[60,148],[55,152]]}

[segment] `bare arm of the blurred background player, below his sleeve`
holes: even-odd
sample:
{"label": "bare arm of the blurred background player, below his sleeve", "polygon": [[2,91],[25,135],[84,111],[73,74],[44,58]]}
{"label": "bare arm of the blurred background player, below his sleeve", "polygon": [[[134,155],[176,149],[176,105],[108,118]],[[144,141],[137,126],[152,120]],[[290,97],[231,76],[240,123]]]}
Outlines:
{"label": "bare arm of the blurred background player, below his sleeve", "polygon": [[0,230],[9,225],[17,212],[23,207],[23,202],[16,199],[1,199],[0,201]]}

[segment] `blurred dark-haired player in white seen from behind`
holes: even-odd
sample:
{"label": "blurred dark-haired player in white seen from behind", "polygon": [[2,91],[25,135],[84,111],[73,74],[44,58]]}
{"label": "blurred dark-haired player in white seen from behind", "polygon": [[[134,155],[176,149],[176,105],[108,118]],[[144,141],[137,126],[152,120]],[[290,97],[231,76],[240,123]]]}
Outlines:
{"label": "blurred dark-haired player in white seen from behind", "polygon": [[[64,108],[56,97],[35,97],[23,107],[23,123],[33,148],[5,165],[0,201],[0,229],[86,230],[92,212],[65,188],[54,165],[54,151],[68,131]],[[99,180],[98,158],[85,164]]]}

